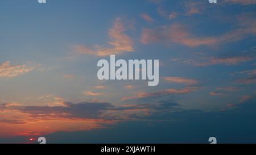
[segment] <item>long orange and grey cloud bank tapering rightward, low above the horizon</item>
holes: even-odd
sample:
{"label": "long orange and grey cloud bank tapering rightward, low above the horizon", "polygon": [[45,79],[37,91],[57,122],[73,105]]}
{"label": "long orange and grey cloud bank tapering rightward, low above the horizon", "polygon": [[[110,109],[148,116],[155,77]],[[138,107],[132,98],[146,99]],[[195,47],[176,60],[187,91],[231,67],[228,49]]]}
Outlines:
{"label": "long orange and grey cloud bank tapering rightward, low above the horizon", "polygon": [[[61,100],[61,98],[56,98]],[[58,131],[86,131],[106,124],[135,120],[150,112],[174,109],[178,104],[64,103],[65,106],[0,104],[0,137],[42,136]]]}

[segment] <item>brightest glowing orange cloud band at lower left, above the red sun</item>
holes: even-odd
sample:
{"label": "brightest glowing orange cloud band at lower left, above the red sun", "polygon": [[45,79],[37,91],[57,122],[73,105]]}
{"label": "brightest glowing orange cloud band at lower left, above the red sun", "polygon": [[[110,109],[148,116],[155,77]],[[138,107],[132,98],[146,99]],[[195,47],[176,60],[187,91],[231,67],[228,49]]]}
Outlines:
{"label": "brightest glowing orange cloud band at lower left, above the red sun", "polygon": [[42,136],[57,131],[87,131],[103,128],[102,123],[112,122],[101,119],[74,119],[74,120],[38,120],[26,124],[0,123],[0,135],[3,136]]}

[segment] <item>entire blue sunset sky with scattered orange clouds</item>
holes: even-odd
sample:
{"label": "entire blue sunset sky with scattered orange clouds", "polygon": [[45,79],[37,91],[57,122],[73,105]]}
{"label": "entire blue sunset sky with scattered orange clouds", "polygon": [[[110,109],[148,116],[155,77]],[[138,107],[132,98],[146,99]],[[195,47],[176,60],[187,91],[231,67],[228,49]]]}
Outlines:
{"label": "entire blue sunset sky with scattered orange clouds", "polygon": [[[256,143],[255,0],[2,0],[0,143]],[[159,85],[97,62],[159,60]]]}

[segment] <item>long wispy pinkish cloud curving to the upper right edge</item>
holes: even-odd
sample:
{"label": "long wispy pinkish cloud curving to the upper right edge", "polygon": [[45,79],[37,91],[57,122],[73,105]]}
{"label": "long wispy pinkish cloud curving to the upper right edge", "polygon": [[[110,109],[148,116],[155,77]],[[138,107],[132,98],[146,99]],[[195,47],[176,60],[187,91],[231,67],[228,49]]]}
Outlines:
{"label": "long wispy pinkish cloud curving to the upper right edge", "polygon": [[[175,23],[170,26],[159,28],[144,28],[142,31],[141,42],[143,44],[165,43],[165,44],[181,44],[188,47],[199,47],[201,45],[216,45],[234,42],[245,39],[251,35],[255,36],[255,18],[251,16],[238,16],[238,28],[226,32],[220,36],[196,36],[188,31],[184,24]],[[252,22],[254,21],[254,22]]]}

